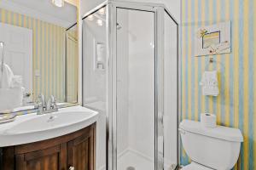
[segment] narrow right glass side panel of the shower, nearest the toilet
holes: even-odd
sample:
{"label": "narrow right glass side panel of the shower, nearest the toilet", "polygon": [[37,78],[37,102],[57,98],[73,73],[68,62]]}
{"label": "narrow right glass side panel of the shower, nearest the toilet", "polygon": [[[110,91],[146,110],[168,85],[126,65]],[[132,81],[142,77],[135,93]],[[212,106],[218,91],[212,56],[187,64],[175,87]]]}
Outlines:
{"label": "narrow right glass side panel of the shower, nearest the toilet", "polygon": [[165,170],[177,167],[177,24],[164,14],[164,117]]}

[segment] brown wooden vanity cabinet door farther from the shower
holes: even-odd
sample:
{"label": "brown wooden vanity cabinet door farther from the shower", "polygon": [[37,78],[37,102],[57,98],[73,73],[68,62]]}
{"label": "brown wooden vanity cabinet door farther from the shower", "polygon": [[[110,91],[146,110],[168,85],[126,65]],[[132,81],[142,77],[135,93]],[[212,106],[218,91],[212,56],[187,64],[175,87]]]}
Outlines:
{"label": "brown wooden vanity cabinet door farther from the shower", "polygon": [[[16,170],[66,170],[65,151],[61,145],[15,155]],[[65,148],[64,148],[65,149]]]}

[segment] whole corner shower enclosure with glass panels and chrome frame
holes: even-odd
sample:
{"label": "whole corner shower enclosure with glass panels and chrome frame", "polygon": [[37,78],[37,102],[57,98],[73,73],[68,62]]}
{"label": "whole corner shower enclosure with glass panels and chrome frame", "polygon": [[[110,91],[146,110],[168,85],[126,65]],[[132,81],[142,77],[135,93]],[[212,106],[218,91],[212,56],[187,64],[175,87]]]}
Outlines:
{"label": "whole corner shower enclosure with glass panels and chrome frame", "polygon": [[108,1],[83,18],[83,105],[99,111],[97,170],[177,168],[177,22]]}

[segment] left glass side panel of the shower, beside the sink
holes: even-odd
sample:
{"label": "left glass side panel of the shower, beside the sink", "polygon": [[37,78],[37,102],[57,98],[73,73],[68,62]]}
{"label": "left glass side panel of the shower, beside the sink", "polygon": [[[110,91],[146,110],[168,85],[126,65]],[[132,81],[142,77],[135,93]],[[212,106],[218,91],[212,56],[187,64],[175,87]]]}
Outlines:
{"label": "left glass side panel of the shower, beside the sink", "polygon": [[83,106],[99,112],[96,170],[107,169],[107,8],[99,8],[83,20]]}

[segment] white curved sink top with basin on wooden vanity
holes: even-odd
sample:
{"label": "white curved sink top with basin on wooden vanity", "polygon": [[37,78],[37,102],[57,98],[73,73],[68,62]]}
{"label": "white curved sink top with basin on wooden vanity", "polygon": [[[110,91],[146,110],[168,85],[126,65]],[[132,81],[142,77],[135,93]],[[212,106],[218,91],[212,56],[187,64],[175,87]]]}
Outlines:
{"label": "white curved sink top with basin on wooden vanity", "polygon": [[73,133],[96,122],[98,113],[81,106],[38,116],[18,116],[15,122],[0,125],[0,147],[27,144]]}

